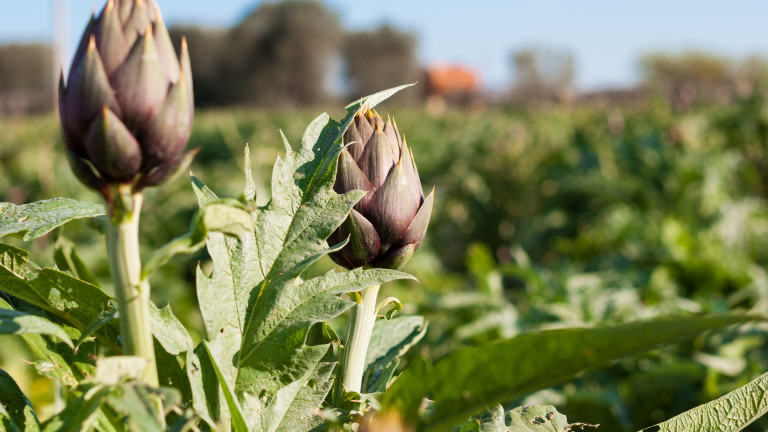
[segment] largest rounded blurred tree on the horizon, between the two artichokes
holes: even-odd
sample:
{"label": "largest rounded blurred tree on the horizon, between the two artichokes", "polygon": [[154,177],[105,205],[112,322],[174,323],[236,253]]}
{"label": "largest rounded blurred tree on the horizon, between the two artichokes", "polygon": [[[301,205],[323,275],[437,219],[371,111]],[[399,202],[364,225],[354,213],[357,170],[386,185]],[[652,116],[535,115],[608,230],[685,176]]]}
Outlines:
{"label": "largest rounded blurred tree on the horizon, between the two artichokes", "polygon": [[261,4],[219,48],[226,97],[261,105],[323,101],[341,38],[338,18],[319,1]]}

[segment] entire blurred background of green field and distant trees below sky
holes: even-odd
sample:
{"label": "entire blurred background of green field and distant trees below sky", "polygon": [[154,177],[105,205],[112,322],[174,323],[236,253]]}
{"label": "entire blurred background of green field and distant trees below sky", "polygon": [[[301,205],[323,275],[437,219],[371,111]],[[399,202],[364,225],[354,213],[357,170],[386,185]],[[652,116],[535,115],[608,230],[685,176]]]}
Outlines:
{"label": "entire blurred background of green field and distant trees below sky", "polygon": [[[265,3],[232,28],[171,33],[177,43],[186,35],[193,60],[200,109],[189,147],[201,151],[192,171],[236,197],[250,143],[261,204],[284,151],[279,130],[296,146],[322,110],[340,118],[356,97],[420,81],[379,110],[405,132],[424,187],[436,188],[427,240],[405,269],[420,283],[384,288],[405,313],[428,318],[420,354],[437,360],[459,346],[559,326],[768,314],[768,62],[761,57],[649,54],[639,60],[636,86],[577,92],[570,53],[529,47],[511,54],[508,87],[490,94],[471,69],[421,65],[413,33],[386,25],[350,32],[319,2]],[[343,69],[343,82],[334,82],[334,68]],[[49,112],[48,69],[46,46],[0,47],[0,201],[98,199],[66,164]],[[183,234],[196,208],[186,179],[147,195],[145,255]],[[45,265],[53,265],[55,242],[76,243],[108,287],[97,228],[74,223],[33,243],[3,241]],[[205,252],[177,257],[151,278],[153,300],[171,303],[195,330],[202,328],[197,265],[209,265]],[[324,260],[311,271],[331,268]],[[759,325],[708,335],[510,406],[553,403],[601,430],[637,430],[768,370],[767,339]],[[0,365],[50,412],[51,383],[18,361],[32,354],[14,338],[2,343]]]}

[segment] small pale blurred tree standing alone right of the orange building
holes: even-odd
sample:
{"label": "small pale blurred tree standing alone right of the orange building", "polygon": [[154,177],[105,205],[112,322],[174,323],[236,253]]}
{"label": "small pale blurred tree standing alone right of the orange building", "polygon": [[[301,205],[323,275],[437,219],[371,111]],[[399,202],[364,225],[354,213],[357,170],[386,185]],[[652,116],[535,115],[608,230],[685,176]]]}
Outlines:
{"label": "small pale blurred tree standing alone right of the orange building", "polygon": [[525,48],[512,54],[513,96],[523,102],[568,100],[573,94],[575,63],[567,51]]}

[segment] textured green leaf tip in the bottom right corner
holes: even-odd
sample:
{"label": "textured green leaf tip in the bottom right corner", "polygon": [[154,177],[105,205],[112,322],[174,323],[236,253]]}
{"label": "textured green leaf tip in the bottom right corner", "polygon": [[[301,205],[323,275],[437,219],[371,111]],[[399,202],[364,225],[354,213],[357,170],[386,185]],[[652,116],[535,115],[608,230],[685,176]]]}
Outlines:
{"label": "textured green leaf tip in the bottom right corner", "polygon": [[736,432],[768,413],[768,373],[712,402],[642,432]]}

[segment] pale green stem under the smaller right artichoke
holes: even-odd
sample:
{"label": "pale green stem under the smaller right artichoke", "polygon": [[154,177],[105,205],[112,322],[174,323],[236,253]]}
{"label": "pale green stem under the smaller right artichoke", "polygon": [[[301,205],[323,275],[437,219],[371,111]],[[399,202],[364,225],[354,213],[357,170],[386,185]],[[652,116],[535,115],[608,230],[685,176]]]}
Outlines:
{"label": "pale green stem under the smaller right artichoke", "polygon": [[[341,351],[341,364],[336,395],[342,390],[360,393],[365,372],[365,354],[371,341],[373,323],[376,321],[376,296],[379,285],[360,291],[360,302],[352,307],[347,325],[347,338]],[[338,402],[338,400],[337,400]]]}

